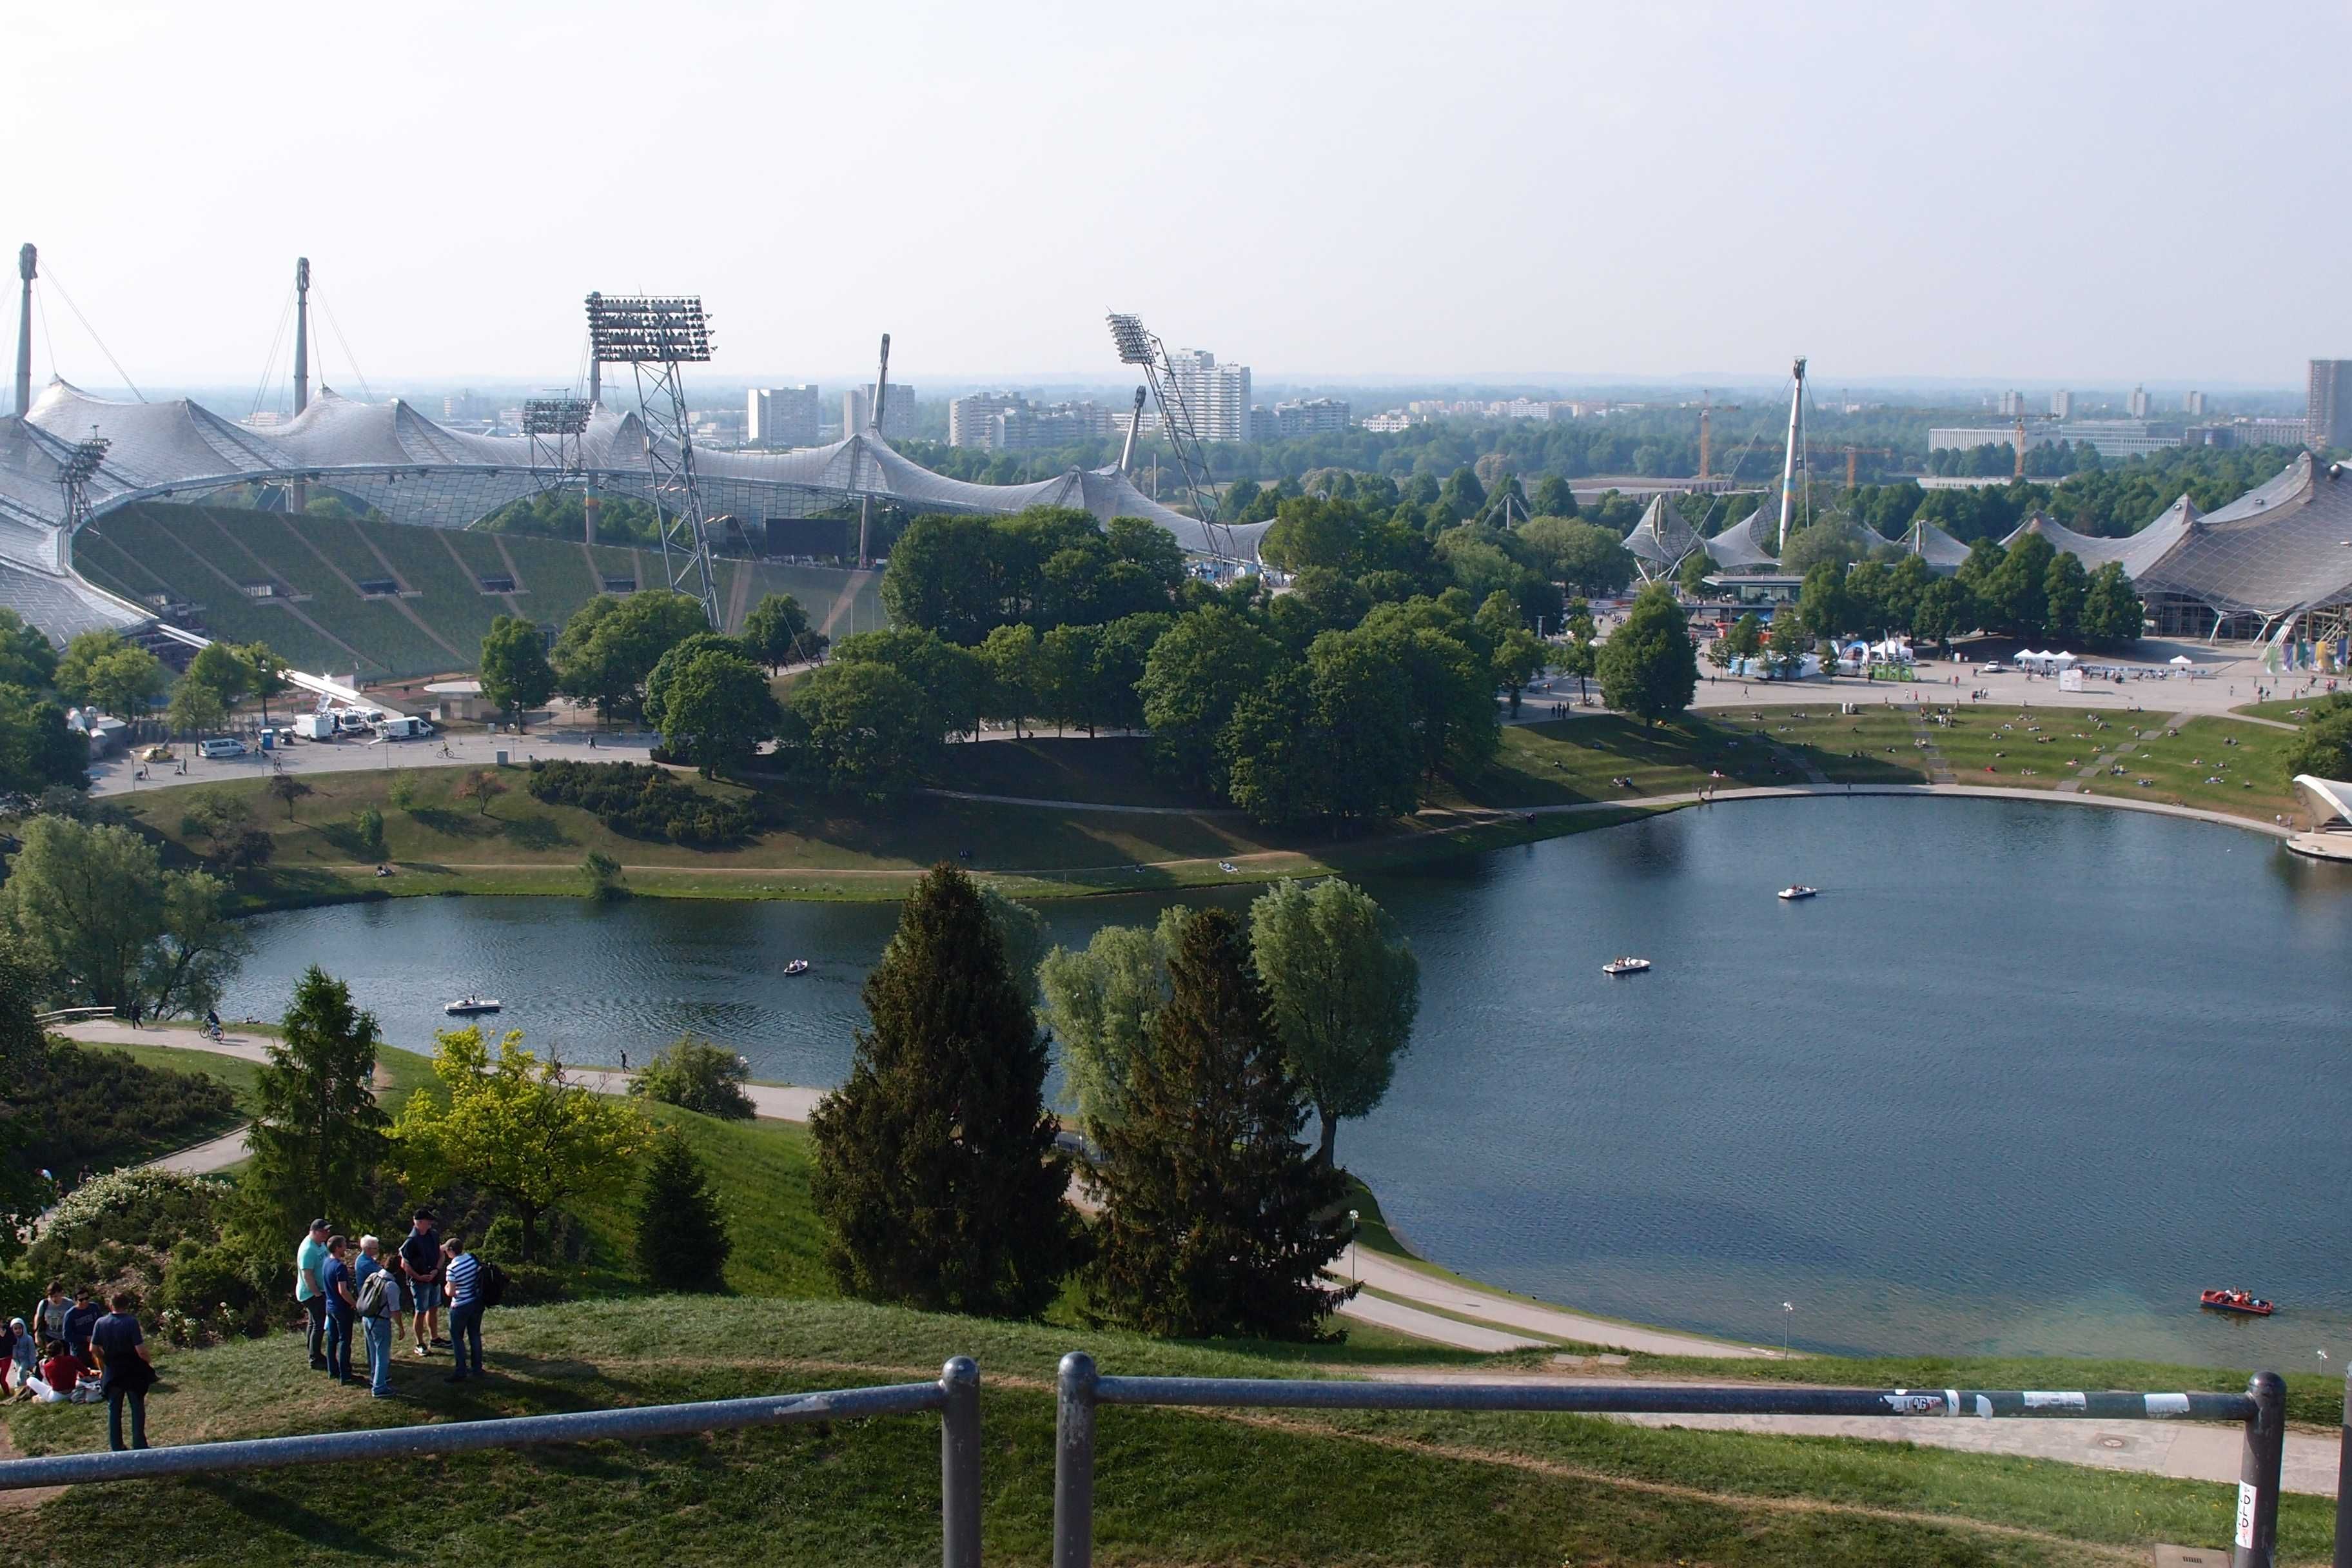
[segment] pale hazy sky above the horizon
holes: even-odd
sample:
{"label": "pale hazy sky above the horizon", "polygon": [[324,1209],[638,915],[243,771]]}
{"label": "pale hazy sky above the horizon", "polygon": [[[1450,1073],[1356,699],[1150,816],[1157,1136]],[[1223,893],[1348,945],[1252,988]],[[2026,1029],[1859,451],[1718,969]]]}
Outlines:
{"label": "pale hazy sky above the horizon", "polygon": [[296,254],[376,381],[569,381],[588,289],[729,381],[1110,381],[1105,308],[1289,381],[2352,355],[2345,5],[0,0],[0,61],[7,254],[141,383],[259,378]]}

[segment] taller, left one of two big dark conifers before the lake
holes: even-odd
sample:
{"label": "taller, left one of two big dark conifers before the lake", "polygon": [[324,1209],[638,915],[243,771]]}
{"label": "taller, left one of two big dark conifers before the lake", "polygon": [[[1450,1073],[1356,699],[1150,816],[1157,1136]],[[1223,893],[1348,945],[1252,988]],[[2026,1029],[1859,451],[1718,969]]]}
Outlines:
{"label": "taller, left one of two big dark conifers before the lake", "polygon": [[873,1030],[809,1119],[842,1291],[1037,1316],[1082,1258],[1044,1107],[1044,1037],[981,891],[934,865],[866,978]]}

